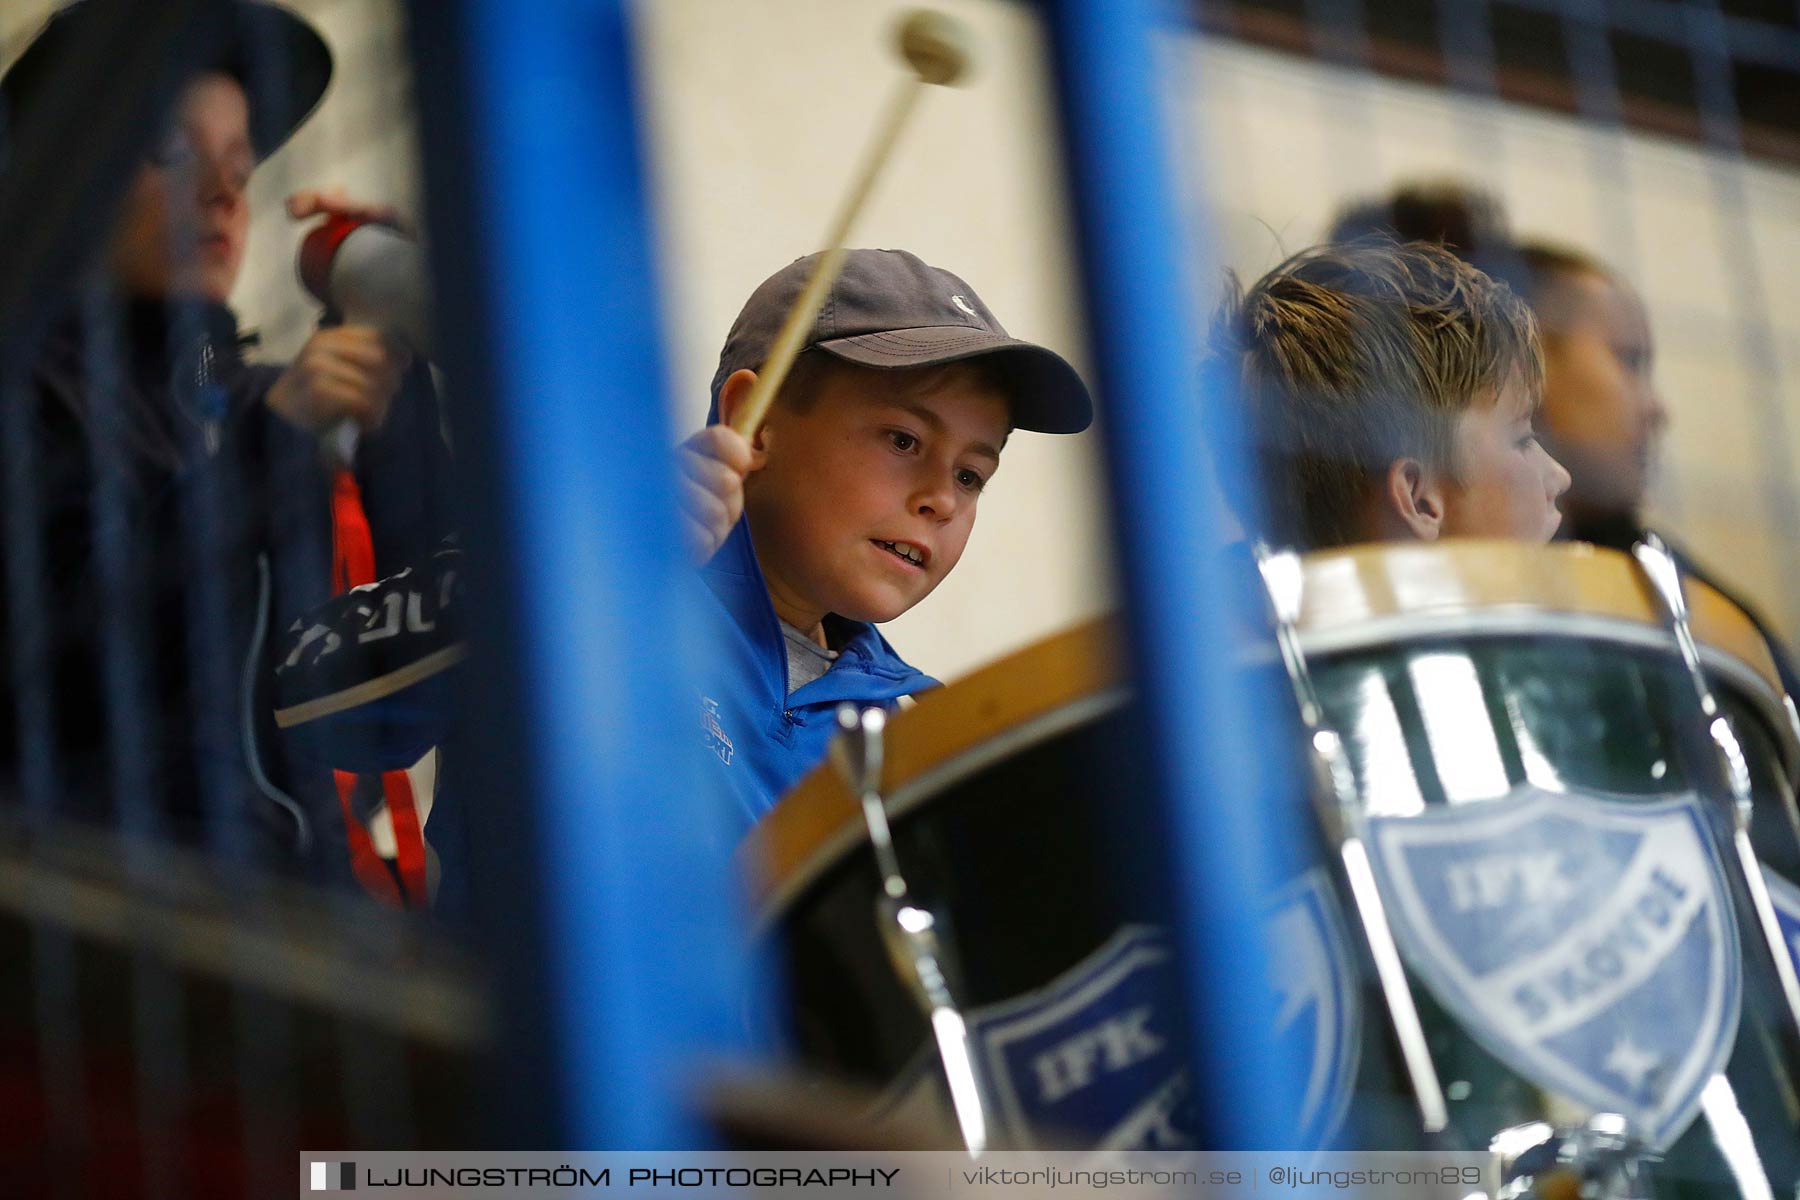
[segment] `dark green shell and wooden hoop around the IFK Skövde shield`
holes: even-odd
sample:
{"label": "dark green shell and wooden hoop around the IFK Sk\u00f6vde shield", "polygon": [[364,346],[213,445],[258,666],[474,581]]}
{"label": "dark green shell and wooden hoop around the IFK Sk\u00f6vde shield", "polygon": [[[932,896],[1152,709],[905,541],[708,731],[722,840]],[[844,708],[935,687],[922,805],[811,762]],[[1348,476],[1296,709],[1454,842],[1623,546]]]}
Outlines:
{"label": "dark green shell and wooden hoop around the IFK Sk\u00f6vde shield", "polygon": [[[1361,554],[1309,561],[1309,587],[1328,576],[1339,587],[1301,630],[1325,720],[1339,732],[1355,775],[1359,813],[1348,828],[1366,835],[1382,820],[1517,804],[1521,792],[1534,788],[1645,806],[1703,797],[1744,970],[1741,1020],[1723,1074],[1762,1169],[1778,1187],[1791,1187],[1800,1173],[1793,1029],[1732,855],[1733,813],[1719,752],[1692,678],[1629,560],[1586,547],[1535,556],[1508,551],[1510,583],[1476,581],[1469,590],[1485,587],[1489,596],[1458,599],[1444,556],[1411,554],[1413,567],[1424,563],[1424,578],[1408,578],[1408,563],[1372,563]],[[1534,572],[1546,561],[1564,574],[1534,594]],[[1377,587],[1359,590],[1372,576]],[[1357,587],[1345,588],[1346,579]],[[1372,594],[1382,588],[1386,597]],[[1404,592],[1411,603],[1395,603]],[[1505,594],[1505,603],[1496,603],[1494,592]],[[1690,588],[1690,603],[1694,597]],[[1750,628],[1742,613],[1724,612],[1717,596],[1699,599],[1710,621],[1701,630],[1708,682],[1753,783],[1751,842],[1768,867],[1793,873],[1800,865],[1796,747],[1773,664],[1760,642],[1741,637]],[[1395,896],[1386,882],[1382,894],[1391,910]],[[1417,968],[1417,955],[1408,961]],[[1449,1099],[1447,1137],[1485,1146],[1507,1128],[1580,1117],[1580,1105],[1501,1061],[1417,970],[1409,975]],[[1364,999],[1382,1007],[1373,986]],[[1363,1119],[1355,1137],[1370,1144],[1422,1137],[1417,1112],[1408,1112],[1409,1094],[1395,1090],[1404,1079],[1399,1063],[1391,1033],[1382,1029],[1364,1047],[1355,1099]],[[1715,1141],[1708,1119],[1696,1117],[1651,1169],[1654,1195],[1735,1195],[1733,1171]]]}

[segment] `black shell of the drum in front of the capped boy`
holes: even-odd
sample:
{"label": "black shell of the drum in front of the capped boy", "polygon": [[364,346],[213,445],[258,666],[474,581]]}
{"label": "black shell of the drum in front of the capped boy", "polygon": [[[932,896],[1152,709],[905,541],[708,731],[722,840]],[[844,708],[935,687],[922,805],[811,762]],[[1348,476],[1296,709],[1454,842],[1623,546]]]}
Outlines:
{"label": "black shell of the drum in front of the capped boy", "polygon": [[[1114,831],[1089,802],[1093,763],[1123,723],[1114,711],[900,806],[895,847],[914,898],[958,950],[961,1004],[1040,988],[1121,925],[1154,921],[1148,898],[1125,894],[1096,853]],[[929,1029],[875,937],[878,894],[862,846],[796,901],[781,954],[801,1056],[886,1087],[914,1063]]]}

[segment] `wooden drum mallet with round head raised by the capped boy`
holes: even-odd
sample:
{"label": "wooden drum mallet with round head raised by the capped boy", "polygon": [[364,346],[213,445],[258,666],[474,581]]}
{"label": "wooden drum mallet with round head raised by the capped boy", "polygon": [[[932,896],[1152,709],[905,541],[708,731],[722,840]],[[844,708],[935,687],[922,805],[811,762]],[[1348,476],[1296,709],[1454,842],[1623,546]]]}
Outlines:
{"label": "wooden drum mallet with round head raised by the capped boy", "polygon": [[875,189],[875,178],[887,164],[895,142],[900,139],[900,130],[905,126],[907,117],[913,115],[913,108],[918,104],[925,85],[949,86],[968,74],[968,31],[961,22],[943,13],[914,9],[900,25],[898,43],[900,56],[913,68],[913,74],[900,85],[900,90],[887,104],[887,115],[882,121],[880,131],[875,135],[875,142],[862,160],[862,169],[857,173],[850,194],[844,198],[844,207],[839,209],[837,219],[824,237],[826,252],[819,255],[819,261],[812,268],[812,277],[806,279],[806,286],[801,288],[794,308],[788,309],[787,320],[781,324],[781,333],[776,335],[774,345],[769,347],[769,358],[763,360],[763,369],[756,374],[751,394],[743,398],[743,405],[731,417],[731,428],[743,434],[745,439],[754,439],[756,430],[761,428],[763,417],[769,416],[769,405],[774,403],[776,392],[781,390],[781,381],[787,380],[788,367],[794,365],[794,358],[806,340],[806,329],[819,317],[824,293],[837,282],[837,273],[844,266],[844,243],[850,237],[850,227]]}

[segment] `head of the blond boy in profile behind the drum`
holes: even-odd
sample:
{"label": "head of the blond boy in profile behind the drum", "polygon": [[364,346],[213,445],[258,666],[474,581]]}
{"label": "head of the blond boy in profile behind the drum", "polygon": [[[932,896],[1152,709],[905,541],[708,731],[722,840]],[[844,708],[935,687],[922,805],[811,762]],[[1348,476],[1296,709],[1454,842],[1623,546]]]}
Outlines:
{"label": "head of the blond boy in profile behind the drum", "polygon": [[1274,540],[1548,542],[1570,475],[1537,437],[1543,351],[1503,282],[1422,243],[1305,250],[1222,308]]}

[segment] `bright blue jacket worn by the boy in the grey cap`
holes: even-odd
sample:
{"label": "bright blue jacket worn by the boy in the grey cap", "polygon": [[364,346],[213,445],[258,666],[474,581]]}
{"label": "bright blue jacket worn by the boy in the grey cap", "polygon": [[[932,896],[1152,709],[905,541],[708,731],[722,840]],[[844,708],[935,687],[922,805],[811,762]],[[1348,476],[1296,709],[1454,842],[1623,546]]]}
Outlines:
{"label": "bright blue jacket worn by the boy in the grey cap", "polygon": [[749,522],[700,569],[713,594],[718,653],[700,669],[702,736],[745,824],[824,761],[837,732],[837,705],[893,705],[938,680],[907,666],[873,624],[826,617],[839,658],[792,696],[787,642],[756,565]]}

